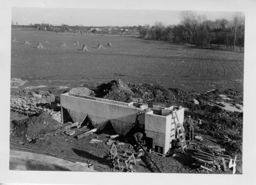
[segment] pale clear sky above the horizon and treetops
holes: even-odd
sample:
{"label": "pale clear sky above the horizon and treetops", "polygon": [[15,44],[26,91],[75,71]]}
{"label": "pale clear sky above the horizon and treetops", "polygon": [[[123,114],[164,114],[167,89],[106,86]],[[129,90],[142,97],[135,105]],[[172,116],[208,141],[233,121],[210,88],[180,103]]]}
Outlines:
{"label": "pale clear sky above the horizon and treetops", "polygon": [[[84,26],[133,26],[153,25],[161,21],[164,25],[180,23],[180,12],[173,10],[128,10],[128,9],[85,9],[85,8],[31,8],[13,7],[12,21],[19,25],[42,22],[52,25]],[[231,19],[234,12],[198,11],[207,19]]]}

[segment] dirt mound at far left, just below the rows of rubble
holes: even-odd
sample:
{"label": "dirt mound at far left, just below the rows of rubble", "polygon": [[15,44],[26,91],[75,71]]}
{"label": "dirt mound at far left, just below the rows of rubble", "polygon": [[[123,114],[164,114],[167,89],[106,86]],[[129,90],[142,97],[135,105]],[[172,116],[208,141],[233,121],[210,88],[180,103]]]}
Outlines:
{"label": "dirt mound at far left, just below the rows of rubble", "polygon": [[20,137],[22,141],[32,141],[59,127],[59,123],[46,112],[39,116],[29,117],[23,120],[13,120],[11,123],[11,137]]}

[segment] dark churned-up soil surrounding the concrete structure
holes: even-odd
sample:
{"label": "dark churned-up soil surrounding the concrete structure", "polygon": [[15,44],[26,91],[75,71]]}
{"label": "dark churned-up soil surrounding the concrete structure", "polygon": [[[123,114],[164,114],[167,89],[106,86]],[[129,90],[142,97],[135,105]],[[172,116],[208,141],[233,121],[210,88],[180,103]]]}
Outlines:
{"label": "dark churned-up soil surrounding the concrete structure", "polygon": [[[184,118],[188,115],[197,121],[202,120],[202,124],[196,124],[195,136],[202,136],[203,141],[194,141],[196,145],[189,145],[187,154],[181,154],[180,150],[171,150],[166,157],[157,154],[150,154],[151,158],[157,163],[158,167],[164,173],[198,173],[192,170],[191,164],[193,159],[191,154],[198,148],[207,145],[218,145],[226,149],[225,154],[229,154],[234,159],[237,155],[236,171],[242,173],[242,141],[243,141],[243,91],[240,90],[212,90],[209,92],[184,92],[177,88],[164,88],[161,86],[150,84],[124,83],[121,80],[112,80],[109,83],[99,84],[98,86],[81,85],[81,87],[90,89],[93,93],[91,96],[112,99],[117,101],[138,101],[146,103],[146,99],[154,99],[154,105],[182,105],[185,107]],[[35,88],[35,89],[12,89],[11,95],[31,97],[36,93],[42,95],[45,103],[54,101],[55,97],[61,93],[69,91],[69,88]],[[89,92],[89,90],[87,90]],[[47,97],[51,97],[47,102]],[[39,100],[38,96],[34,97]],[[195,101],[195,99],[197,101]],[[218,102],[225,102],[232,105],[237,111],[225,110],[225,105]],[[241,106],[238,106],[241,105]],[[38,105],[39,106],[39,105]],[[46,104],[40,106],[43,109],[54,109]],[[239,109],[240,108],[240,112]],[[69,156],[76,161],[83,162],[89,160],[93,163],[94,168],[98,171],[109,172],[110,160],[106,158],[110,146],[106,144],[109,135],[107,133],[94,133],[91,136],[81,140],[75,139],[74,136],[83,133],[89,128],[73,128],[75,131],[73,136],[68,136],[64,132],[55,135],[44,136],[51,130],[64,126],[53,120],[50,115],[52,111],[42,111],[37,116],[24,116],[11,112],[11,143],[19,143],[20,145],[48,153]],[[34,139],[36,136],[43,136],[40,139]],[[229,138],[228,141],[223,141]],[[32,139],[32,141],[30,140]],[[89,143],[92,139],[102,142]],[[123,140],[121,140],[123,141]],[[11,144],[11,148],[12,148]],[[134,151],[132,145],[125,143],[118,145],[118,152]],[[139,158],[138,158],[139,159]],[[137,165],[134,165],[137,172],[152,172],[142,159]],[[118,172],[118,170],[116,170]],[[214,171],[214,173],[232,173],[230,169],[227,172]]]}

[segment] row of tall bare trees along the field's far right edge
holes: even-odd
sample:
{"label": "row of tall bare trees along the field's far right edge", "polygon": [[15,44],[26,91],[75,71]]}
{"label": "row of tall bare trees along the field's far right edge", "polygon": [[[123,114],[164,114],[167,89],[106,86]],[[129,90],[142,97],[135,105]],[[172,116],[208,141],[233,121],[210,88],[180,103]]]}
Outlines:
{"label": "row of tall bare trees along the field's far right edge", "polygon": [[192,11],[181,12],[180,17],[181,22],[177,25],[155,22],[151,27],[140,26],[140,37],[243,52],[244,16],[241,12],[236,12],[231,20],[212,21]]}

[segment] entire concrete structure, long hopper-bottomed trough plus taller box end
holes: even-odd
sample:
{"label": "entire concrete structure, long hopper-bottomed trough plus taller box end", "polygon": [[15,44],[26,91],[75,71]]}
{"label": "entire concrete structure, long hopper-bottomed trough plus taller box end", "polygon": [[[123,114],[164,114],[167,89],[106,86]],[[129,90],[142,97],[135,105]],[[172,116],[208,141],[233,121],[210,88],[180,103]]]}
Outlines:
{"label": "entire concrete structure, long hopper-bottomed trough plus taller box end", "polygon": [[[60,95],[62,123],[68,121],[83,123],[90,120],[94,128],[103,129],[110,123],[118,135],[125,136],[134,123],[144,129],[147,138],[151,138],[152,149],[165,154],[171,148],[175,138],[175,124],[171,108],[147,105],[135,102],[123,103],[107,99],[82,96],[72,93]],[[179,121],[183,124],[184,108],[177,110]]]}

